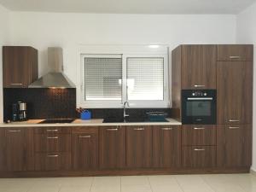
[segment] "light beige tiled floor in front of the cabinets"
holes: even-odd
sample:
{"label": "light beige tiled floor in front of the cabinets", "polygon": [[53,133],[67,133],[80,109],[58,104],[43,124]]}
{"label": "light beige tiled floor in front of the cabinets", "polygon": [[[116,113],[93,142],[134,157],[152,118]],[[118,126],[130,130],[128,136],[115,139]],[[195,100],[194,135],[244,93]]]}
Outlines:
{"label": "light beige tiled floor in front of the cabinets", "polygon": [[253,174],[0,179],[0,192],[256,192]]}

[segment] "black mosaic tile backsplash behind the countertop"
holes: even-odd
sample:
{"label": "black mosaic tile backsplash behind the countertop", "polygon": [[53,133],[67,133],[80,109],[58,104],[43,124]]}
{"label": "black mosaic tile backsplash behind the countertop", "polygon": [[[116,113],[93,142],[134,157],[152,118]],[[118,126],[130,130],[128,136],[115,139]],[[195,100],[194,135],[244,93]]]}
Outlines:
{"label": "black mosaic tile backsplash behind the countertop", "polygon": [[[76,89],[3,89],[4,121],[11,117],[11,104],[27,103],[28,119],[79,118],[76,112]],[[89,108],[94,119],[122,117],[123,108]],[[130,116],[144,118],[147,112],[165,112],[170,108],[127,108]]]}

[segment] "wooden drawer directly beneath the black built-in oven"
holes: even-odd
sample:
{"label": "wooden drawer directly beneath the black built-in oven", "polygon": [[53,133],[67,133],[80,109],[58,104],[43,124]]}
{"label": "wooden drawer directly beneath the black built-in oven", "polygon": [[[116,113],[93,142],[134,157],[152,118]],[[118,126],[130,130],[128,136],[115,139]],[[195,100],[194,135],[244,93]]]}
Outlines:
{"label": "wooden drawer directly beneath the black built-in oven", "polygon": [[183,145],[216,145],[215,125],[183,125]]}

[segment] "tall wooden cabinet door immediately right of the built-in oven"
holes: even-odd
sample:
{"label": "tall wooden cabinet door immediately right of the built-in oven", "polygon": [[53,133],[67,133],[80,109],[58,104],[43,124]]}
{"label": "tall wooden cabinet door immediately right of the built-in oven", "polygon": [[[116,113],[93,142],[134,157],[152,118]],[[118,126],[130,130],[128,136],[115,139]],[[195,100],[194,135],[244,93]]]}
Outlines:
{"label": "tall wooden cabinet door immediately right of the built-in oven", "polygon": [[219,61],[218,124],[252,124],[253,62]]}

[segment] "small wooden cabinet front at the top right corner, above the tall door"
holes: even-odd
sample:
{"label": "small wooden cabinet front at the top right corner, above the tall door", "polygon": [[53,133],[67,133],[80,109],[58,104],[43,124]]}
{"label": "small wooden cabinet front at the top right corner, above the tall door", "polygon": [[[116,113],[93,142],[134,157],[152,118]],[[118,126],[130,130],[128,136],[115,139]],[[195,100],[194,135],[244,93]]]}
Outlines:
{"label": "small wooden cabinet front at the top right corner, above the tall door", "polygon": [[253,45],[218,45],[218,61],[253,61]]}

